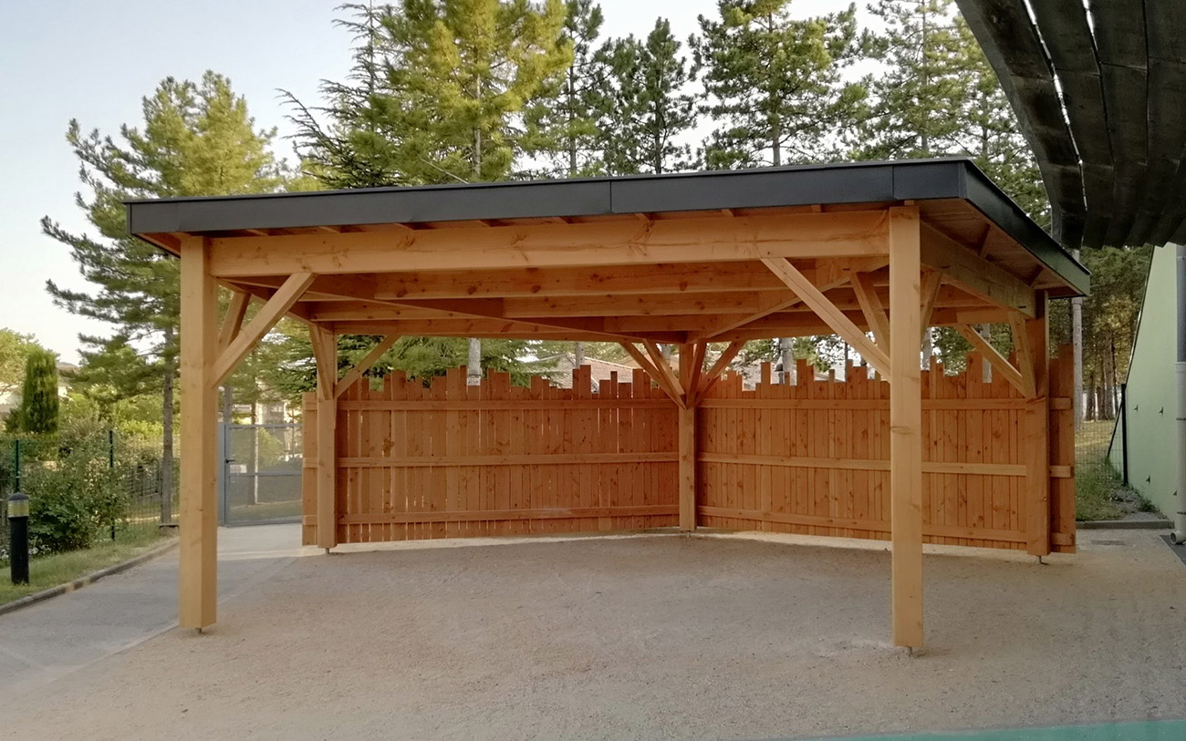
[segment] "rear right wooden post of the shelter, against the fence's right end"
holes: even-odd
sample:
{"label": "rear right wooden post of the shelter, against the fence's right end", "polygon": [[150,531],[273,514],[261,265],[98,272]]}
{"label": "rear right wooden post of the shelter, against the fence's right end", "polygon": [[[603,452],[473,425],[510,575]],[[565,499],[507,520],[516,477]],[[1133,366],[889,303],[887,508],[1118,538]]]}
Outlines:
{"label": "rear right wooden post of the shelter, against the fence's right end", "polygon": [[[1046,294],[1038,292],[1037,318],[1025,322],[1028,362],[1034,395],[1026,402],[1026,550],[1034,556],[1050,552],[1050,325]],[[1032,371],[1026,368],[1031,366]],[[1028,385],[1028,384],[1027,384]]]}

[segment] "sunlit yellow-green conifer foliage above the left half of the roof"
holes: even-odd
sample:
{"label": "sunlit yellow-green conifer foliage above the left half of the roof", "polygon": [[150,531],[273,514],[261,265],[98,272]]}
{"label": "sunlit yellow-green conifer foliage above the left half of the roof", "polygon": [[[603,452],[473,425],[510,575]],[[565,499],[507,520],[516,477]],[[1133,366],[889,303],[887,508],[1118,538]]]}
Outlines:
{"label": "sunlit yellow-green conifer foliage above the left half of the roof", "polygon": [[538,148],[523,126],[538,116],[522,114],[572,63],[561,0],[343,7],[355,13],[340,24],[356,36],[350,78],[323,83],[324,108],[288,96],[298,143],[327,185],[500,180]]}

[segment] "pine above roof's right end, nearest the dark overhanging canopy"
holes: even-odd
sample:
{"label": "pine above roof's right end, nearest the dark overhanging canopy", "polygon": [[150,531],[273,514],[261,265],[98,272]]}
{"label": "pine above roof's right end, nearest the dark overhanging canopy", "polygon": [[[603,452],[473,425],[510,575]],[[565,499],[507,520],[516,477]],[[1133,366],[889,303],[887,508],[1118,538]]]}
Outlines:
{"label": "pine above roof's right end, nearest the dark overhanging canopy", "polygon": [[885,32],[872,39],[884,65],[871,83],[861,159],[937,156],[958,149],[964,129],[965,50],[952,0],[879,0]]}

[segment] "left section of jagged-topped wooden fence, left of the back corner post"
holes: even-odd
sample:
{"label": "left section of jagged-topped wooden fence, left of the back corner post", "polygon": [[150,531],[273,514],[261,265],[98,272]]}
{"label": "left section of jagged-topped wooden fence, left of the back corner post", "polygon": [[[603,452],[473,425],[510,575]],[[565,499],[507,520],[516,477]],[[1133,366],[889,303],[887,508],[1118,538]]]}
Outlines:
{"label": "left section of jagged-topped wooden fence, left of the back corner post", "polygon": [[[425,388],[396,372],[338,401],[338,542],[667,528],[678,524],[675,405],[642,371],[592,391],[464,369]],[[305,403],[304,542],[315,543],[315,408]]]}

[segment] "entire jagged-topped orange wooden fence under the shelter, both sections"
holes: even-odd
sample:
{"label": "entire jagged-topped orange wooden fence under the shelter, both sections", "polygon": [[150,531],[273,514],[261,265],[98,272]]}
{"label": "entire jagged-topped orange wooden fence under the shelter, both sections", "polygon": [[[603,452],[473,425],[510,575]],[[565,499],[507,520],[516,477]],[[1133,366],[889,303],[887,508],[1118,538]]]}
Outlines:
{"label": "entire jagged-topped orange wooden fence under the shelter, both sections", "polygon": [[[1027,400],[981,359],[923,375],[924,537],[1026,549],[1035,535],[1073,551],[1070,363],[1051,362],[1050,426],[1027,430]],[[697,525],[860,538],[890,537],[888,384],[771,383],[728,373],[696,413]],[[304,541],[315,543],[317,423],[305,403]],[[1042,433],[1034,435],[1034,433]],[[1028,435],[1028,437],[1027,437]],[[1027,440],[1048,435],[1048,517],[1034,509]],[[464,370],[431,388],[402,373],[364,379],[338,401],[338,542],[359,543],[678,524],[677,410],[642,371],[591,389],[506,373],[465,385]],[[1033,446],[1029,446],[1033,447]],[[1039,466],[1039,469],[1044,467]],[[1045,480],[1045,479],[1042,479]],[[1040,484],[1046,486],[1046,484]]]}

